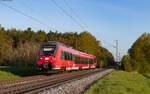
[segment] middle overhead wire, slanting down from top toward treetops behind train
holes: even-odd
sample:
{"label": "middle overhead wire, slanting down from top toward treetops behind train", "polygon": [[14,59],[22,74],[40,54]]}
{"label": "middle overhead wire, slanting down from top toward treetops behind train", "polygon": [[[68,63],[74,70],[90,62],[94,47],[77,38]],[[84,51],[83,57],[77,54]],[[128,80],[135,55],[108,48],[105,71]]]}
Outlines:
{"label": "middle overhead wire, slanting down from top toward treetops behind train", "polygon": [[85,28],[84,26],[82,26],[72,15],[70,15],[63,7],[61,7],[59,4],[57,4],[57,2],[55,0],[51,0],[52,3],[54,3],[56,5],[56,7],[58,7],[65,15],[67,15],[68,17],[70,17],[72,19],[72,21],[74,21],[81,29],[83,29],[84,31]]}

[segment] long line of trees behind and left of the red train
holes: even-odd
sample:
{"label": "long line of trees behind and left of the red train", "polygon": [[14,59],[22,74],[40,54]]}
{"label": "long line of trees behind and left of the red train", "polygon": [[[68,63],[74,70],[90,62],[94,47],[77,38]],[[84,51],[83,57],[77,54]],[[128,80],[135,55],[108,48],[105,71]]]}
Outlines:
{"label": "long line of trees behind and left of the red train", "polygon": [[93,54],[97,57],[98,67],[114,65],[113,55],[100,46],[89,32],[53,32],[33,31],[31,28],[17,30],[0,26],[0,65],[35,66],[39,46],[45,41],[58,41],[76,50]]}

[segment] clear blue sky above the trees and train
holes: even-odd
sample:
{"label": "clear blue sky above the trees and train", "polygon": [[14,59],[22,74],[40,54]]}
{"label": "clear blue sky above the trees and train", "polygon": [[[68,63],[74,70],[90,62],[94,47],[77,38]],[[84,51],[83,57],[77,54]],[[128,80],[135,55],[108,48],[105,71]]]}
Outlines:
{"label": "clear blue sky above the trees and train", "polygon": [[[44,25],[4,4],[38,19]],[[116,49],[113,46],[115,40],[118,40],[119,53],[123,56],[141,34],[150,31],[149,4],[150,0],[0,0],[0,24],[7,29],[24,30],[32,27],[33,30],[42,29],[46,32],[50,29],[78,33],[86,30],[100,40],[101,45],[114,56]]]}

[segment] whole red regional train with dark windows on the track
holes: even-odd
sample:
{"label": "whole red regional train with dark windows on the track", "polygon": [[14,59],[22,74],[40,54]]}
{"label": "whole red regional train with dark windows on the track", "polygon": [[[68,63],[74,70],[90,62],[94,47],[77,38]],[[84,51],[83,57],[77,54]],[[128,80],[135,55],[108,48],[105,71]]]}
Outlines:
{"label": "whole red regional train with dark windows on the track", "polygon": [[40,46],[36,62],[39,70],[82,70],[96,67],[96,57],[65,46],[56,41]]}

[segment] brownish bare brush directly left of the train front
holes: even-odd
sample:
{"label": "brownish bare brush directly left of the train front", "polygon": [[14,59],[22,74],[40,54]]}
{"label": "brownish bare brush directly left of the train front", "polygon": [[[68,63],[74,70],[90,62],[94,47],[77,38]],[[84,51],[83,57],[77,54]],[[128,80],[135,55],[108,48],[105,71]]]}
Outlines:
{"label": "brownish bare brush directly left of the train front", "polygon": [[8,65],[11,66],[34,66],[39,50],[37,43],[25,43],[13,49]]}

